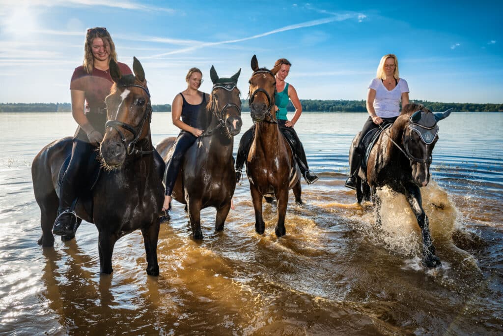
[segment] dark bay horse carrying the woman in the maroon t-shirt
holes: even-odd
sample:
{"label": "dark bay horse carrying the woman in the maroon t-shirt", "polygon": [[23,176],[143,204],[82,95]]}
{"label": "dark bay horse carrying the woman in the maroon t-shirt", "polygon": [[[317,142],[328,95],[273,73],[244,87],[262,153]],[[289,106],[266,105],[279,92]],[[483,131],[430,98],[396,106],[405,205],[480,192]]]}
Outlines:
{"label": "dark bay horse carrying the woman in the maroon t-shirt", "polygon": [[[112,273],[115,242],[125,234],[141,229],[147,259],[147,274],[157,276],[158,213],[163,188],[154,165],[150,139],[152,108],[145,73],[134,58],[133,75],[122,76],[110,60],[115,82],[106,98],[107,123],[100,146],[102,166],[95,187],[81,195],[75,207],[78,223],[94,223],[99,232],[101,273]],[[58,208],[58,173],[70,155],[72,139],[56,140],[40,151],[32,164],[33,189],[41,210],[42,246],[53,246],[51,229]]]}

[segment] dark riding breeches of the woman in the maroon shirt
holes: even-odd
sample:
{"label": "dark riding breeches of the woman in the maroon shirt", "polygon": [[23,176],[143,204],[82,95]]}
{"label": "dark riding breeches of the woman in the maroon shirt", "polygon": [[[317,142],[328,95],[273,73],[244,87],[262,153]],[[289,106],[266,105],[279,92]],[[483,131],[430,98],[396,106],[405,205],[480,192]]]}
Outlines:
{"label": "dark riding breeches of the woman in the maroon shirt", "polygon": [[[71,158],[64,173],[59,190],[59,212],[69,209],[73,201],[78,196],[78,190],[81,189],[81,181],[86,179],[88,163],[96,146],[80,140],[73,140],[73,147],[71,149]],[[80,176],[80,178],[77,178]]]}

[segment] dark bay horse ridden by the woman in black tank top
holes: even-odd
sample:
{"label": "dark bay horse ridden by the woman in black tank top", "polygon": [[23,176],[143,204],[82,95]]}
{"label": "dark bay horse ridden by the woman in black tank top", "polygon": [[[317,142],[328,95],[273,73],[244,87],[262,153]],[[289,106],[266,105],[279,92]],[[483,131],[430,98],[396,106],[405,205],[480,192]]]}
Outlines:
{"label": "dark bay horse ridden by the woman in black tank top", "polygon": [[[212,66],[211,100],[201,111],[206,127],[185,153],[172,196],[187,205],[194,239],[203,239],[201,210],[217,210],[215,230],[222,231],[236,187],[232,149],[241,130],[241,99],[236,87],[239,70],[231,78],[218,78]],[[166,138],[156,149],[165,162],[171,157],[176,138]]]}

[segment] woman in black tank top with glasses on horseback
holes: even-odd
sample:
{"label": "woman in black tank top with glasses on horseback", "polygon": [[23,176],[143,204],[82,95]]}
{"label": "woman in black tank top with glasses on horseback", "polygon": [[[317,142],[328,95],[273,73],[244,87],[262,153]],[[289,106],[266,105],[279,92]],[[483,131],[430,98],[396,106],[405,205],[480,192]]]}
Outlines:
{"label": "woman in black tank top with glasses on horseback", "polygon": [[162,210],[171,209],[171,193],[177,180],[178,172],[189,147],[202,135],[204,120],[200,116],[201,110],[209,101],[209,95],[199,91],[203,73],[197,68],[192,68],[187,73],[187,89],[176,95],[173,100],[171,116],[173,124],[181,129],[171,158],[166,163],[164,181],[166,191]]}

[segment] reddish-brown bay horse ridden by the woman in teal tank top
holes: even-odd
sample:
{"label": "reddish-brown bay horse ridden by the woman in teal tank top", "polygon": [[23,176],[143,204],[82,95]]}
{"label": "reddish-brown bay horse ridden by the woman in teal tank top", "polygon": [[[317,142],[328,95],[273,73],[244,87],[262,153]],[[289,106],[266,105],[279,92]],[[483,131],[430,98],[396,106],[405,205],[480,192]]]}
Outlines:
{"label": "reddish-brown bay horse ridden by the woman in teal tank top", "polygon": [[[276,235],[285,235],[288,190],[293,188],[295,201],[302,203],[300,172],[292,149],[276,121],[275,94],[279,66],[272,70],[259,68],[257,56],[251,58],[254,73],[249,80],[250,116],[255,121],[255,136],[246,158],[246,175],[250,183],[251,199],[255,208],[255,231],[263,234],[262,198],[276,197],[278,223]],[[271,110],[272,113],[271,113]]]}

